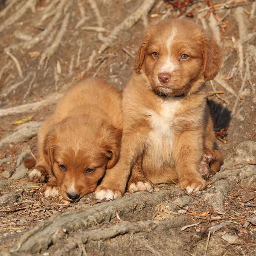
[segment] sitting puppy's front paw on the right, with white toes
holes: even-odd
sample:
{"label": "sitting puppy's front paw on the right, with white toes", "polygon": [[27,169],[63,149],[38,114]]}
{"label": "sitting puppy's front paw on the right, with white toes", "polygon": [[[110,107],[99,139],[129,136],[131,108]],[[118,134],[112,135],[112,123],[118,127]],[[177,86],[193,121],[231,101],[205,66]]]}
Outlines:
{"label": "sitting puppy's front paw on the right, with white toes", "polygon": [[[193,174],[191,174],[190,176],[193,176]],[[180,180],[181,189],[186,190],[186,192],[188,193],[204,190],[206,186],[207,186],[206,181],[200,176],[186,177]]]}

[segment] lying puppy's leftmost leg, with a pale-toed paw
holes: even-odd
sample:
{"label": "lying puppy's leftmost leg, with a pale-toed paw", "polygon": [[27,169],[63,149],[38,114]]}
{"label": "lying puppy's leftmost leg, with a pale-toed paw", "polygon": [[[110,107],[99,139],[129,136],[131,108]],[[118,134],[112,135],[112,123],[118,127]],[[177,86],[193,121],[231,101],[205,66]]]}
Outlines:
{"label": "lying puppy's leftmost leg, with a pale-toed paw", "polygon": [[[44,182],[48,176],[48,166],[44,155],[44,138],[50,130],[51,118],[48,118],[38,131],[38,153],[35,167],[29,173],[29,179],[33,182]],[[26,165],[26,163],[24,163]]]}

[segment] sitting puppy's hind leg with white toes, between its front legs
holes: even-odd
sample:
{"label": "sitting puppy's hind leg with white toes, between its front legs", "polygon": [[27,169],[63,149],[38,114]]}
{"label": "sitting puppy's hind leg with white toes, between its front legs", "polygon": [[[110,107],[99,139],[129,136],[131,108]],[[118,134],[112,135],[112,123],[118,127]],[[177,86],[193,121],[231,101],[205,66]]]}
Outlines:
{"label": "sitting puppy's hind leg with white toes, between its front legs", "polygon": [[131,175],[128,180],[127,189],[130,192],[137,192],[137,191],[149,191],[152,192],[153,188],[151,186],[151,182],[146,179],[145,175],[141,169],[141,161],[142,156],[140,156],[134,165]]}

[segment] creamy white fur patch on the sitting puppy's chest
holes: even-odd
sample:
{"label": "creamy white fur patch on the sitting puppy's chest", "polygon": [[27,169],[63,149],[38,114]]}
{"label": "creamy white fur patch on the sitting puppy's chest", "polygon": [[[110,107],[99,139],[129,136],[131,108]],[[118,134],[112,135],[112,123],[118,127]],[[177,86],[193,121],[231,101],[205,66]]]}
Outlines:
{"label": "creamy white fur patch on the sitting puppy's chest", "polygon": [[172,126],[175,123],[175,113],[180,108],[180,99],[169,98],[163,101],[160,106],[160,113],[152,110],[147,111],[152,131],[149,134],[146,154],[152,158],[166,161],[172,154],[174,142]]}

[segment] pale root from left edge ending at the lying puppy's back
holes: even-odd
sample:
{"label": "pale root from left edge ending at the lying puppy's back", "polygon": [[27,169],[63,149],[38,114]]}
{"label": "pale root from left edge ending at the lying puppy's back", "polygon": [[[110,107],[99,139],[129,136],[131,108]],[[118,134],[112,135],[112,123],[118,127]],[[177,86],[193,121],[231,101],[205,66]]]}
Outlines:
{"label": "pale root from left edge ending at the lying puppy's back", "polygon": [[51,104],[55,104],[61,97],[63,96],[62,93],[53,93],[39,102],[28,103],[24,105],[20,105],[17,107],[12,108],[2,108],[0,109],[0,116],[7,116],[11,114],[17,113],[27,113],[33,112],[45,106],[49,106]]}

